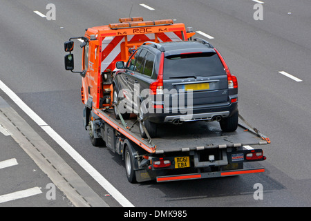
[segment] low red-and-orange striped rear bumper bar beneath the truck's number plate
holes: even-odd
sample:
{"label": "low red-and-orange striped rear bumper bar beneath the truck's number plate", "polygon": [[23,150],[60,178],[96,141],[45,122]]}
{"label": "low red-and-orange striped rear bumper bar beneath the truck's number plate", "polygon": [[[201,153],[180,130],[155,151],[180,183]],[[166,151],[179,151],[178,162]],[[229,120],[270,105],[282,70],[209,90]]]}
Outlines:
{"label": "low red-and-orange striped rear bumper bar beneath the truck's number plate", "polygon": [[167,175],[157,177],[157,182],[169,182],[169,181],[178,181],[178,180],[196,180],[196,179],[204,179],[211,177],[227,177],[232,175],[241,175],[248,173],[263,173],[265,169],[256,168],[256,169],[242,169],[242,170],[234,170],[234,171],[219,171],[219,172],[209,172],[209,173],[190,173],[190,174],[182,174],[182,175]]}

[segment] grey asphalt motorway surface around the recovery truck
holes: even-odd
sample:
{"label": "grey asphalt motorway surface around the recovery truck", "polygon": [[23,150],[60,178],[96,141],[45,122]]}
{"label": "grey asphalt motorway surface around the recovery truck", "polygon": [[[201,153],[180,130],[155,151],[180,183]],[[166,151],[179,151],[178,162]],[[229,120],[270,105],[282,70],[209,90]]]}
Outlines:
{"label": "grey asphalt motorway surface around the recovery truck", "polygon": [[[263,21],[253,19],[256,3],[250,0],[59,0],[53,1],[55,21],[33,12],[47,12],[48,3],[1,1],[0,79],[135,206],[311,206],[310,1],[267,1]],[[155,10],[142,8],[140,3]],[[122,159],[106,148],[91,146],[82,126],[81,79],[64,70],[63,44],[69,37],[84,35],[85,28],[115,23],[129,15],[177,19],[214,37],[207,40],[238,77],[240,113],[272,140],[263,148],[267,160],[249,164],[265,167],[265,173],[129,184]],[[79,69],[77,44],[74,53]],[[104,198],[101,186],[1,91],[0,96]],[[253,198],[256,183],[263,184],[263,200]]]}

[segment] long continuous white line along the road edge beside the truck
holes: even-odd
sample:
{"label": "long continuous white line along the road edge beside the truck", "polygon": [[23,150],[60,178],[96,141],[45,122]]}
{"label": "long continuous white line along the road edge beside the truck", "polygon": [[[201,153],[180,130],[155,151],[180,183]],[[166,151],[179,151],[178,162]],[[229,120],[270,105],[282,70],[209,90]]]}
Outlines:
{"label": "long continuous white line along the road edge beside the truck", "polygon": [[32,111],[6,84],[4,84],[0,80],[0,89],[3,90],[6,95],[12,99],[15,104],[17,104],[21,110],[23,110],[32,120],[34,120],[50,137],[59,144],[73,159],[80,165],[82,168],[88,172],[106,191],[109,192],[117,202],[119,202],[124,207],[134,207],[129,200],[127,200],[122,193],[117,191],[115,187],[108,181],[106,178],[104,178],[96,169],[91,166],[75,149],[70,146],[61,136],[59,136],[53,128],[48,126],[46,122],[44,122],[41,117],[39,117],[34,111]]}

